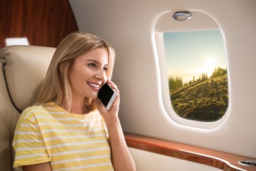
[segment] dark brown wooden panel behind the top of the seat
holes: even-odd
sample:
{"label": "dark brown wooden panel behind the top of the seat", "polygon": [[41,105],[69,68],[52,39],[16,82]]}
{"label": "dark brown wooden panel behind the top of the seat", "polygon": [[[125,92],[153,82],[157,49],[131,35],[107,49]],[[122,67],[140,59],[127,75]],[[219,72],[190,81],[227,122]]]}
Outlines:
{"label": "dark brown wooden panel behind the top of the seat", "polygon": [[0,48],[7,37],[27,37],[30,45],[56,47],[77,30],[68,0],[0,0]]}

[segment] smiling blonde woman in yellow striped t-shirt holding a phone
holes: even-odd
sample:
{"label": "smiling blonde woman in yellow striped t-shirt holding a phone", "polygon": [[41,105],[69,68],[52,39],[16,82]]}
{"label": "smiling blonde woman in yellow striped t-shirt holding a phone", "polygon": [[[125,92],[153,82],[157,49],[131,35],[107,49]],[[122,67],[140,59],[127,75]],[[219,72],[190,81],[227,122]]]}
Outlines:
{"label": "smiling blonde woman in yellow striped t-shirt holding a phone", "polygon": [[[36,105],[15,130],[14,167],[24,170],[136,170],[120,121],[119,91],[110,81],[114,49],[76,32],[58,45]],[[103,84],[118,96],[110,110],[97,99]]]}

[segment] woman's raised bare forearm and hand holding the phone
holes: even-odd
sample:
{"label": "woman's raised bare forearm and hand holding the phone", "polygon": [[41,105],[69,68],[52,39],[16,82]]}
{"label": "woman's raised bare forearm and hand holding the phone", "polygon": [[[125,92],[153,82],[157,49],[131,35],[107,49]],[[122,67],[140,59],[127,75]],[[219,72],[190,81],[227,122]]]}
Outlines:
{"label": "woman's raised bare forearm and hand holding the phone", "polygon": [[132,159],[132,155],[130,155],[130,151],[126,145],[124,134],[122,132],[122,126],[118,118],[120,103],[119,91],[116,85],[114,85],[113,82],[110,82],[110,80],[108,80],[108,84],[110,84],[110,87],[115,89],[118,93],[118,96],[116,97],[112,108],[107,111],[103,107],[103,105],[101,105],[98,99],[95,99],[95,104],[97,105],[97,108],[101,113],[101,116],[103,116],[107,125],[111,145],[112,164],[115,171],[133,171],[136,170],[136,166],[134,163],[134,159]]}

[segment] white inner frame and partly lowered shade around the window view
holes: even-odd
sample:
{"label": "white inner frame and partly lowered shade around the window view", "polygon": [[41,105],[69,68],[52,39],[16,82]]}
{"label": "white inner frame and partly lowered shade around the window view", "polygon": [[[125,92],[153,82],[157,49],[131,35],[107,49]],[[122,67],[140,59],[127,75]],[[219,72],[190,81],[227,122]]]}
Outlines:
{"label": "white inner frame and partly lowered shade around the window view", "polygon": [[[218,128],[218,126],[221,126],[224,124],[224,122],[227,120],[229,114],[230,114],[230,82],[228,81],[228,109],[226,110],[226,113],[220,120],[216,120],[214,122],[204,122],[204,121],[196,121],[196,120],[188,120],[185,118],[182,118],[179,116],[174,110],[171,105],[171,99],[169,97],[169,83],[168,83],[168,74],[167,74],[167,59],[165,57],[165,47],[163,42],[163,32],[182,32],[182,31],[199,31],[199,30],[220,30],[222,32],[220,26],[216,23],[216,21],[208,16],[207,14],[204,14],[203,12],[196,12],[196,11],[190,11],[193,16],[198,16],[198,20],[194,19],[194,24],[192,24],[192,27],[189,28],[190,22],[182,23],[180,21],[171,21],[171,16],[174,12],[168,12],[166,14],[163,14],[160,16],[155,24],[155,46],[158,56],[158,62],[159,62],[159,74],[160,74],[160,81],[161,81],[161,99],[163,102],[163,106],[165,108],[165,111],[167,112],[167,115],[171,120],[176,122],[179,125],[183,126],[190,126],[194,128],[202,128],[202,129],[214,129]],[[205,23],[207,20],[210,20],[210,24],[207,24],[206,26],[202,27],[201,29],[198,28],[198,23]],[[167,22],[169,20],[169,22]],[[193,22],[193,21],[192,21]],[[166,24],[167,23],[167,24]],[[177,24],[179,26],[174,26],[174,24]],[[179,30],[179,27],[183,28],[185,27],[187,30]],[[195,28],[196,27],[196,28]],[[216,28],[218,27],[218,28]],[[226,49],[226,42],[224,33],[222,32],[222,37],[224,39],[224,48]],[[226,64],[227,64],[227,72],[228,72],[228,55],[227,55],[227,49],[226,49]],[[228,72],[229,73],[229,72]],[[229,74],[228,74],[228,80],[229,80]]]}

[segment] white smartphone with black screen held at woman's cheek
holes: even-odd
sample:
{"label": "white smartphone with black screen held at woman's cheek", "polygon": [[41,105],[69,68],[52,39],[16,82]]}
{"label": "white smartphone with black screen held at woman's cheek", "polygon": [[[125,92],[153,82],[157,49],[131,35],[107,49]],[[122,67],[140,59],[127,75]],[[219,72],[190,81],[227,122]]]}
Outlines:
{"label": "white smartphone with black screen held at woman's cheek", "polygon": [[116,96],[116,91],[112,89],[107,83],[105,83],[98,92],[98,99],[107,110],[110,110],[110,108],[112,107]]}

